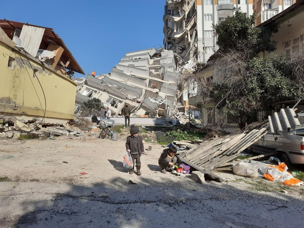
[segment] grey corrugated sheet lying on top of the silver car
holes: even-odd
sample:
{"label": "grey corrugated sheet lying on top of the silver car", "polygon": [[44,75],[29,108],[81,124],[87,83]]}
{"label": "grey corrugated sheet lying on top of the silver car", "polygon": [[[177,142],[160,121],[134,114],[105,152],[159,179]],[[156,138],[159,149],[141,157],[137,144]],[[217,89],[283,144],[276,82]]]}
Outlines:
{"label": "grey corrugated sheet lying on top of the silver car", "polygon": [[268,121],[269,130],[272,133],[286,131],[288,128],[294,129],[301,125],[297,114],[295,114],[295,111],[289,107],[281,109],[280,112],[275,112],[272,116],[268,116]]}

